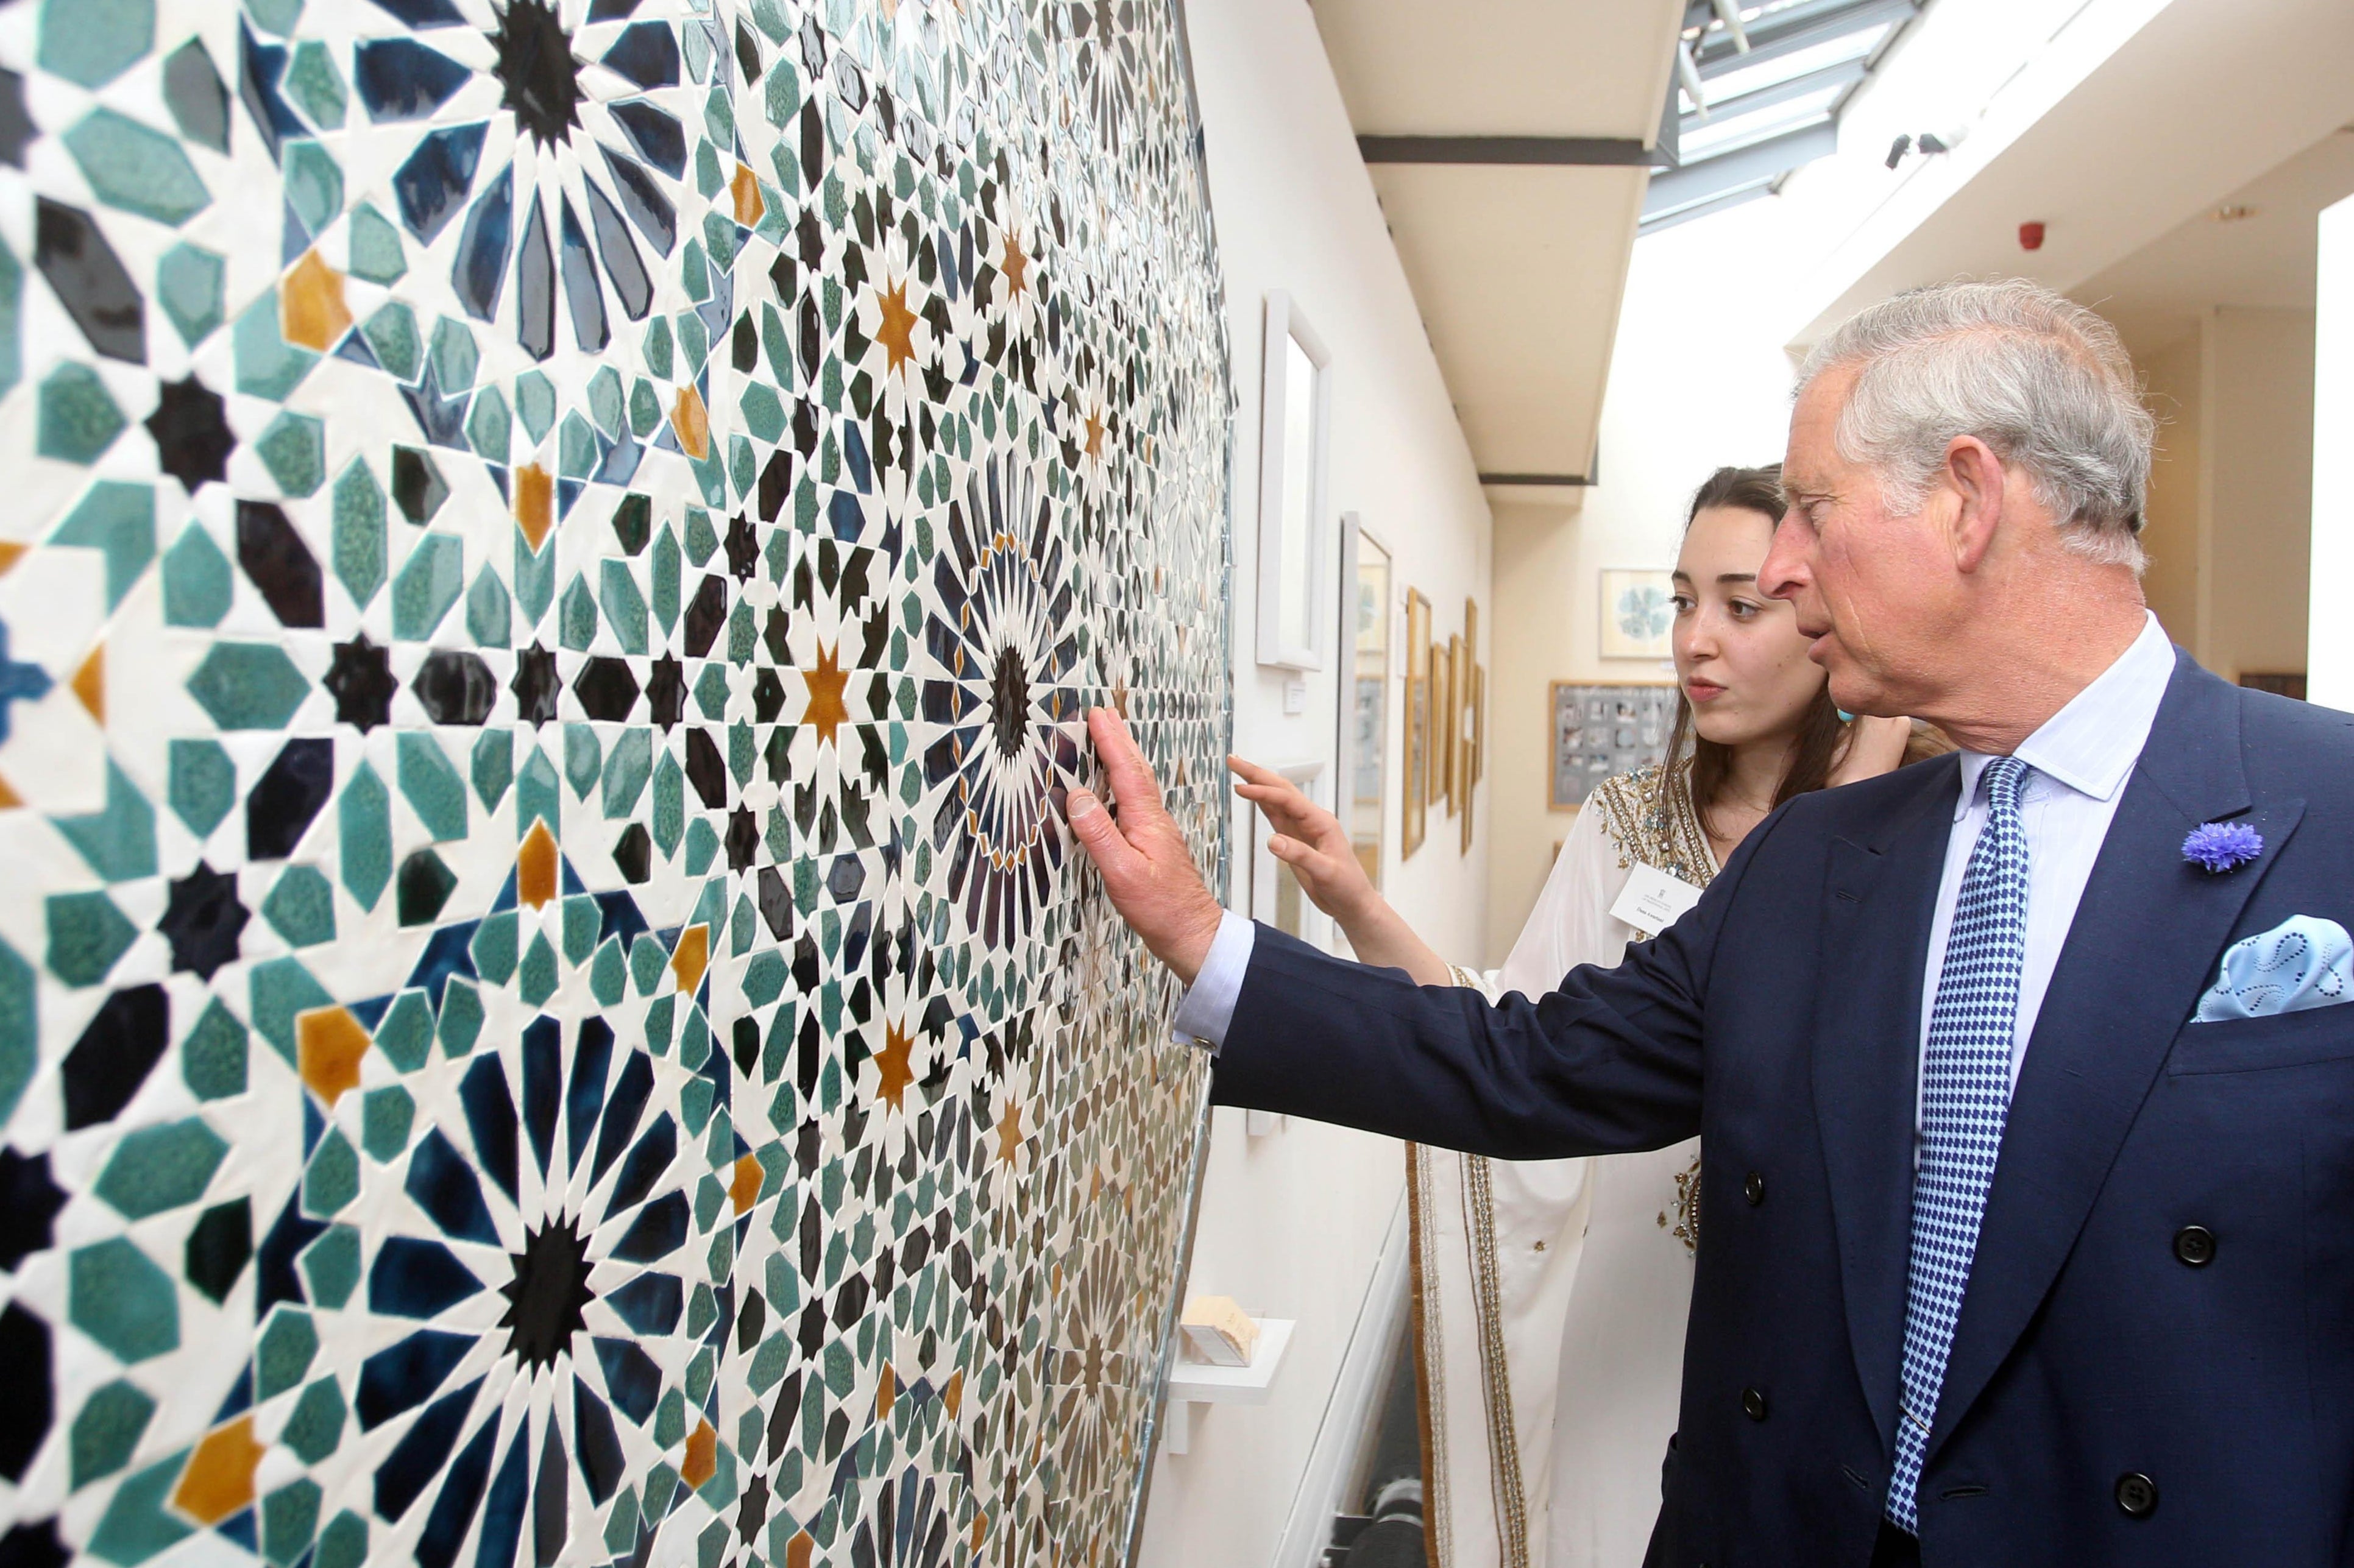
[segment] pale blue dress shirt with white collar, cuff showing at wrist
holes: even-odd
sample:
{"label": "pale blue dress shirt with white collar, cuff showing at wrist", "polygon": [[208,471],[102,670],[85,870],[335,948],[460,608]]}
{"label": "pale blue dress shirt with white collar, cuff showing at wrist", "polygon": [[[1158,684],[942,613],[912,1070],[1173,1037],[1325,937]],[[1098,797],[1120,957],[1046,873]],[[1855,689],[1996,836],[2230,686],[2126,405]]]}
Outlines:
{"label": "pale blue dress shirt with white collar, cuff showing at wrist", "polygon": [[[2020,972],[2020,1010],[2013,1024],[2010,1081],[2017,1083],[2027,1038],[2034,1034],[2043,991],[2050,986],[2060,946],[2076,918],[2076,904],[2093,878],[2100,843],[2109,836],[2116,803],[2126,793],[2133,763],[2142,756],[2149,725],[2175,676],[2175,650],[2147,617],[2142,636],[2100,673],[2093,685],[2053,713],[2027,737],[2017,756],[2034,777],[2020,800],[2020,824],[2027,833],[2027,961]],[[1937,975],[1944,968],[1944,944],[1954,930],[1954,899],[1961,897],[1961,873],[1970,864],[1987,803],[1977,798],[1977,775],[1994,760],[1982,751],[1961,753],[1961,800],[1954,805],[1954,833],[1947,841],[1944,876],[1937,883],[1937,906],[1930,921],[1928,963],[1921,970],[1921,1045],[1928,1045],[1928,1015],[1937,998]],[[1217,1050],[1233,1022],[1233,1003],[1250,972],[1255,928],[1231,909],[1217,923],[1217,939],[1203,958],[1193,989],[1177,1005],[1172,1034],[1179,1041]]]}

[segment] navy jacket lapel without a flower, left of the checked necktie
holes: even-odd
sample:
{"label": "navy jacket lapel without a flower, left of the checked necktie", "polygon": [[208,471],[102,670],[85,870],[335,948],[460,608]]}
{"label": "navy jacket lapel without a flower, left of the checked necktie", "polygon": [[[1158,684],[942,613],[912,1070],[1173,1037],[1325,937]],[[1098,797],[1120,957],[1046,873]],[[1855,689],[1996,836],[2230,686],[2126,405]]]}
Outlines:
{"label": "navy jacket lapel without a flower, left of the checked necktie", "polygon": [[1831,841],[1824,954],[1841,975],[1815,1008],[1815,1116],[1838,1229],[1848,1344],[1864,1398],[1895,1441],[1911,1257],[1914,1099],[1921,1074],[1921,965],[1961,768],[1878,833]]}

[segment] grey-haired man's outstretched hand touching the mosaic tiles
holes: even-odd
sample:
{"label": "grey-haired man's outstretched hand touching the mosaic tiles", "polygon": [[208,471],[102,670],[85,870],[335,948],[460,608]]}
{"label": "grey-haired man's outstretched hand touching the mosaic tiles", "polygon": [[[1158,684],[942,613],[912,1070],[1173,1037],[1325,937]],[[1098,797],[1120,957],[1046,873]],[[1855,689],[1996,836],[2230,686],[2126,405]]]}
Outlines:
{"label": "grey-haired man's outstretched hand touching the mosaic tiles", "polygon": [[1121,803],[1113,822],[1092,791],[1073,789],[1064,812],[1071,833],[1104,873],[1104,892],[1128,928],[1144,937],[1153,958],[1193,984],[1210,942],[1217,939],[1219,906],[1193,869],[1184,833],[1161,805],[1161,784],[1128,725],[1111,709],[1088,709],[1088,735],[1104,758],[1104,777]]}

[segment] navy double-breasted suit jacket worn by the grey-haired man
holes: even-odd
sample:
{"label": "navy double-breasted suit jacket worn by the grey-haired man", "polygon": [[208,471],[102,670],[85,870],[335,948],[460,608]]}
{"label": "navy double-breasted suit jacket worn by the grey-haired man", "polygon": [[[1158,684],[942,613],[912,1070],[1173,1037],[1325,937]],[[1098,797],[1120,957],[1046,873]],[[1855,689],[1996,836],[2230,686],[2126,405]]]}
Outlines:
{"label": "navy double-breasted suit jacket worn by the grey-haired man", "polygon": [[[1683,1568],[1871,1559],[1959,777],[1791,800],[1671,930],[1537,1001],[1257,932],[1224,1104],[1499,1158],[1702,1135],[1660,1535]],[[2189,866],[2217,819],[2262,857]],[[2010,1099],[1921,1474],[1930,1568],[2354,1561],[2354,1005],[2189,1024],[2222,951],[2295,913],[2354,928],[2354,718],[2177,657]]]}

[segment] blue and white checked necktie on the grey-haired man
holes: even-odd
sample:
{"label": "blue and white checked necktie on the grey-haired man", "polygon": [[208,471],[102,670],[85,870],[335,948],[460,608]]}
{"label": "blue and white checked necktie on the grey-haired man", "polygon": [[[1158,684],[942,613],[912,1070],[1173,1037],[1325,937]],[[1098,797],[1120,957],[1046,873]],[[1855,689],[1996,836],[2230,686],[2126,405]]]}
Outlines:
{"label": "blue and white checked necktie on the grey-haired man", "polygon": [[1921,1067],[1921,1168],[1914,1175],[1911,1285],[1904,1297],[1904,1401],[1888,1519],[1919,1533],[1914,1493],[1937,1422],[1944,1358],[1970,1285],[1977,1222],[2010,1111],[2010,1036],[2027,958],[2027,833],[2020,791],[2032,770],[2015,756],[1987,763],[1987,824],[1961,873],[1954,928],[1937,972]]}

